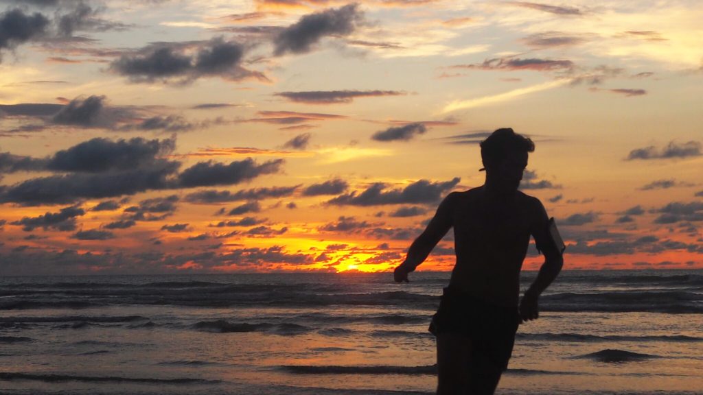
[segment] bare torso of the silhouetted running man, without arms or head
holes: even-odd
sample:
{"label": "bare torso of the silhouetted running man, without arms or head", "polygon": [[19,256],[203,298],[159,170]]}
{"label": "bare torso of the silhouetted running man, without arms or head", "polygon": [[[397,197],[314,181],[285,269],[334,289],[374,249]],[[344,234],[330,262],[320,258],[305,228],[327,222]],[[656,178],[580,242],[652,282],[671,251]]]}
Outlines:
{"label": "bare torso of the silhouetted running man, without arms or head", "polygon": [[520,191],[488,198],[484,187],[453,195],[456,266],[449,286],[486,302],[517,306],[530,235],[546,220],[539,215],[541,203]]}

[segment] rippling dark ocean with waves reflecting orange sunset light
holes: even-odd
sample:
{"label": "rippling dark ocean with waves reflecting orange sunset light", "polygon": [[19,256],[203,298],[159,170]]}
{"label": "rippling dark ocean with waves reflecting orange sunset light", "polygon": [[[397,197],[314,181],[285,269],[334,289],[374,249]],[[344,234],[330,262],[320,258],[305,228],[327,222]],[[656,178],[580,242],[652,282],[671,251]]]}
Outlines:
{"label": "rippling dark ocean with waves reflecting orange sunset light", "polygon": [[[433,394],[448,281],[0,278],[0,393]],[[703,271],[563,271],[540,302],[496,394],[703,394]]]}

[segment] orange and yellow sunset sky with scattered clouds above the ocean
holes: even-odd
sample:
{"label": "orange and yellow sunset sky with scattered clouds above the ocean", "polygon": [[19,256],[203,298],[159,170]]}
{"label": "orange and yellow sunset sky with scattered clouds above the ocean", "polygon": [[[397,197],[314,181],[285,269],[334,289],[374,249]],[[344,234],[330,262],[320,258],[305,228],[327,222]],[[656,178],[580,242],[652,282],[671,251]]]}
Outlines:
{"label": "orange and yellow sunset sky with scattered clouds above the ocean", "polygon": [[[536,143],[522,190],[565,268],[703,268],[702,19],[699,0],[0,0],[0,274],[387,271],[482,185],[500,127]],[[418,270],[450,270],[452,240]]]}

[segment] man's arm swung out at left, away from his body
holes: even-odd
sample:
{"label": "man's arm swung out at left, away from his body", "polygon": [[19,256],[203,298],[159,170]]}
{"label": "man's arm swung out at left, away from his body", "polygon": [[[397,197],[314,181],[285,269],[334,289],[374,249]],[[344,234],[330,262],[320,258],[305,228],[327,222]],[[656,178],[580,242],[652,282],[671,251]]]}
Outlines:
{"label": "man's arm swung out at left, away from his body", "polygon": [[453,202],[456,197],[456,192],[450,193],[442,200],[430,224],[427,224],[425,231],[413,241],[413,244],[408,249],[408,256],[405,261],[396,267],[393,273],[394,280],[397,283],[407,282],[408,273],[414,271],[416,267],[427,259],[427,255],[432,252],[437,242],[449,231],[449,228],[453,225]]}

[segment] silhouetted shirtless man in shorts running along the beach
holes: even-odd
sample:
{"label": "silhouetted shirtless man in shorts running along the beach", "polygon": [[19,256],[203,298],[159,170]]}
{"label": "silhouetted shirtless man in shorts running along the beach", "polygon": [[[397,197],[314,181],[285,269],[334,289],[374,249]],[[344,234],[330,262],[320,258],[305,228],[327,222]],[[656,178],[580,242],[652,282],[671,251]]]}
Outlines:
{"label": "silhouetted shirtless man in shorts running along the beach", "polygon": [[[453,192],[394,272],[408,281],[454,228],[456,264],[430,332],[437,337],[437,394],[493,394],[508,368],[517,326],[538,317],[539,295],[559,274],[563,243],[542,203],[517,190],[534,143],[498,129],[481,143],[483,186]],[[482,169],[482,170],[484,170]],[[530,235],[544,256],[520,299],[520,268]]]}

